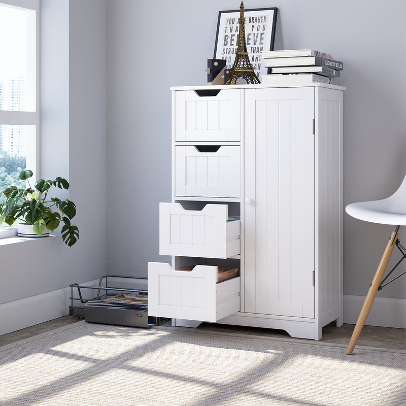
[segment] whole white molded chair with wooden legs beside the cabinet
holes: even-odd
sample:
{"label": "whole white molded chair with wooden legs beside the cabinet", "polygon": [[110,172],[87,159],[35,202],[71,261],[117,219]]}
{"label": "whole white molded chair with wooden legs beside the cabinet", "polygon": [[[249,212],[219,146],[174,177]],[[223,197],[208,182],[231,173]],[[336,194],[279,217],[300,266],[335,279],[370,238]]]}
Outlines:
{"label": "whole white molded chair with wooden legs beside the cabinet", "polygon": [[[364,304],[357,320],[357,324],[354,328],[354,332],[352,333],[350,344],[347,348],[347,354],[352,354],[378,290],[381,290],[384,286],[386,286],[390,282],[393,282],[395,279],[406,273],[406,271],[402,272],[395,278],[386,282],[395,268],[403,259],[406,258],[406,249],[401,246],[397,238],[399,226],[406,225],[406,176],[404,177],[400,187],[396,190],[395,193],[392,194],[392,196],[382,200],[361,201],[360,203],[352,203],[351,205],[348,205],[346,207],[346,212],[356,219],[379,224],[392,224],[396,226],[395,231],[393,231],[390,236],[381,262],[379,263],[377,272],[375,273],[375,277],[366,295]],[[388,275],[383,278],[390,256],[395,246],[400,250],[402,258],[399,260],[399,262],[397,262],[397,264],[388,273]]]}

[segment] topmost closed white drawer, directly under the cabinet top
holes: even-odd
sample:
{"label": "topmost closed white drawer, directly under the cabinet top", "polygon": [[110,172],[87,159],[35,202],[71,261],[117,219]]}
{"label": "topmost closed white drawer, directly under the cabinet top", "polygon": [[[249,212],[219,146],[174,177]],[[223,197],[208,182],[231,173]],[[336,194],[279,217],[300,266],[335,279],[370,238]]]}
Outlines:
{"label": "topmost closed white drawer, directly under the cabinet top", "polygon": [[240,141],[240,89],[175,91],[175,141]]}

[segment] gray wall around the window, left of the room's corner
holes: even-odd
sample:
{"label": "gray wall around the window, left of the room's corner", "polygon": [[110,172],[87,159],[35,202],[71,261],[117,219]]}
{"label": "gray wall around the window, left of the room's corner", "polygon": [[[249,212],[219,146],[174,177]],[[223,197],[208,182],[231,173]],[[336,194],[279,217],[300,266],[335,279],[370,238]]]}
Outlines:
{"label": "gray wall around the window, left of the room's corner", "polygon": [[106,2],[42,0],[41,7],[40,176],[71,183],[80,240],[72,248],[60,237],[1,246],[0,303],[106,272]]}

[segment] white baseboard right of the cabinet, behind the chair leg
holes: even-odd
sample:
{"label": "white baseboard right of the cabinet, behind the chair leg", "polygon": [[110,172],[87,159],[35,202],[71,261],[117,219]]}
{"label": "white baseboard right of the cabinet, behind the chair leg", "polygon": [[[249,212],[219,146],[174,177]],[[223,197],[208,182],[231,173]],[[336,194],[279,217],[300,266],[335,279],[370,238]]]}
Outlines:
{"label": "white baseboard right of the cabinet, behind the chair leg", "polygon": [[[365,296],[344,295],[344,323],[355,324]],[[365,325],[406,328],[406,299],[376,297]]]}

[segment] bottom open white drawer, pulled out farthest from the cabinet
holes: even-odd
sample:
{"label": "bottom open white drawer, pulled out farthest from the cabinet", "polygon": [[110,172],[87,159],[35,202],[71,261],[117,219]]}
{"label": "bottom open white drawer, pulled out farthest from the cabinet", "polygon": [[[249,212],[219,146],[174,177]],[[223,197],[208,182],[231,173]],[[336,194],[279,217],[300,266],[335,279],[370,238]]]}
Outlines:
{"label": "bottom open white drawer, pulled out farthest from the cabinet", "polygon": [[240,311],[240,277],[217,283],[217,266],[190,272],[148,262],[148,314],[215,322]]}

